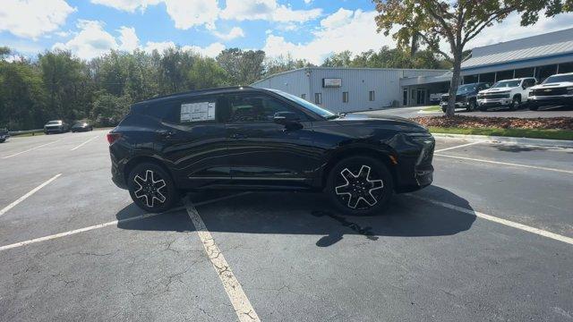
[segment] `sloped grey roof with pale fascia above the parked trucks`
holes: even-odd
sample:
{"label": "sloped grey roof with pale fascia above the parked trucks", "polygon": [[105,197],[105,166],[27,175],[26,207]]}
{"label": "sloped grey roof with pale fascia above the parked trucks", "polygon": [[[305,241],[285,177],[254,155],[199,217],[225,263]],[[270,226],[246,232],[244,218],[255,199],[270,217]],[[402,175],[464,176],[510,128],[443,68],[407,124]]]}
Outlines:
{"label": "sloped grey roof with pale fascia above the parked trucks", "polygon": [[558,55],[573,55],[573,28],[476,47],[462,63],[462,70]]}

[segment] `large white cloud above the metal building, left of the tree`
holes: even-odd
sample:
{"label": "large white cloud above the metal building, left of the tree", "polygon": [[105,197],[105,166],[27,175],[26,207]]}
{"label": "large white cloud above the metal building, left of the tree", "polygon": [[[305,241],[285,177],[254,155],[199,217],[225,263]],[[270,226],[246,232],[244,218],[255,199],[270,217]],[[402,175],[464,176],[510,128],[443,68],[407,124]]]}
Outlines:
{"label": "large white cloud above the metal building, left of the tree", "polygon": [[340,9],[321,21],[321,28],[314,30],[314,38],[305,44],[294,44],[285,38],[268,35],[263,50],[269,56],[292,55],[321,64],[332,53],[350,50],[355,54],[382,46],[394,46],[391,37],[376,32],[375,12]]}

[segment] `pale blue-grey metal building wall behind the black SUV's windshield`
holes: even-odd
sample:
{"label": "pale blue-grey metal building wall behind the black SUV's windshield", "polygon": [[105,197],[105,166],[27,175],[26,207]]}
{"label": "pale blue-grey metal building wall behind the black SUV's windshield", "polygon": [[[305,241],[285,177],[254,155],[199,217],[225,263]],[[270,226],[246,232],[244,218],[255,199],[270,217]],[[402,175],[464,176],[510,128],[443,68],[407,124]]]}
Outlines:
{"label": "pale blue-grey metal building wall behind the black SUV's windshield", "polygon": [[[271,75],[252,87],[279,89],[326,107],[333,112],[375,110],[411,105],[400,80],[439,76],[445,70],[309,67]],[[416,93],[417,94],[417,93]],[[417,101],[428,101],[429,93]],[[414,103],[414,101],[412,101]],[[423,105],[423,104],[420,104]]]}

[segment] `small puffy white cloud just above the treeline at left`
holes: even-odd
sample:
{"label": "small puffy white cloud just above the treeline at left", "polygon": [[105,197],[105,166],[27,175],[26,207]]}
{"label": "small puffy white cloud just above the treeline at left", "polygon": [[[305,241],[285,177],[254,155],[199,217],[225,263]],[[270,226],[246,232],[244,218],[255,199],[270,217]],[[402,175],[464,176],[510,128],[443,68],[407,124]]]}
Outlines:
{"label": "small puffy white cloud just above the treeline at left", "polygon": [[114,36],[104,30],[103,22],[80,20],[77,26],[80,32],[65,43],[56,43],[54,48],[70,50],[84,59],[104,55],[109,49],[118,48]]}

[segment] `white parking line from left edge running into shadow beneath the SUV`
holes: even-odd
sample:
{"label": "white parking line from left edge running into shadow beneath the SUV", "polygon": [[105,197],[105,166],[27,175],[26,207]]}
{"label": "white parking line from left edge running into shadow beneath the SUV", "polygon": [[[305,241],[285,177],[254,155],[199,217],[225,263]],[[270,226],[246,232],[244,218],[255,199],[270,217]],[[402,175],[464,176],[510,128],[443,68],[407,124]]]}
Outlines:
{"label": "white parking line from left edge running into shadow beneath the SUV", "polygon": [[[59,175],[59,174],[58,174],[58,175]],[[207,205],[207,204],[210,204],[210,203],[213,203],[213,202],[217,202],[217,201],[221,201],[221,200],[225,200],[225,199],[231,199],[231,198],[235,198],[235,197],[238,197],[238,196],[242,196],[242,195],[247,194],[247,193],[249,193],[249,192],[237,193],[237,194],[234,194],[234,195],[231,195],[231,196],[225,196],[225,197],[221,197],[221,198],[217,198],[217,199],[210,199],[210,200],[206,200],[206,201],[199,202],[199,203],[195,204],[195,206],[198,206],[198,207],[199,207],[199,206]],[[0,246],[0,251],[2,251],[2,250],[10,250],[10,249],[14,249],[14,248],[18,248],[18,247],[21,247],[21,246],[30,245],[30,244],[37,243],[37,242],[47,242],[47,241],[54,240],[54,239],[56,239],[56,238],[60,238],[60,237],[64,237],[64,236],[70,236],[70,235],[73,235],[73,234],[76,234],[76,233],[89,232],[89,231],[92,231],[92,230],[94,230],[94,229],[103,228],[103,227],[107,227],[107,226],[110,226],[110,225],[117,225],[118,223],[126,223],[126,222],[130,222],[130,221],[133,221],[133,220],[140,220],[140,219],[143,219],[143,218],[149,218],[149,217],[152,217],[152,216],[163,215],[163,214],[167,214],[167,213],[170,213],[170,212],[174,212],[174,211],[177,211],[177,210],[183,210],[183,209],[184,209],[184,207],[178,207],[178,208],[173,208],[173,209],[171,209],[171,210],[169,210],[169,211],[167,211],[167,212],[165,212],[165,213],[160,213],[160,214],[144,214],[144,215],[141,215],[141,216],[133,216],[133,217],[130,217],[130,218],[125,218],[125,219],[120,219],[120,220],[113,220],[113,221],[110,221],[110,222],[107,222],[107,223],[104,223],[104,224],[91,225],[91,226],[89,226],[89,227],[83,227],[83,228],[75,229],[75,230],[72,230],[72,231],[69,231],[69,232],[56,233],[56,234],[52,234],[52,235],[49,235],[49,236],[39,237],[39,238],[35,238],[35,239],[28,240],[28,241],[23,241],[23,242],[15,242],[15,243],[13,243],[13,244],[5,245],[5,246]]]}

